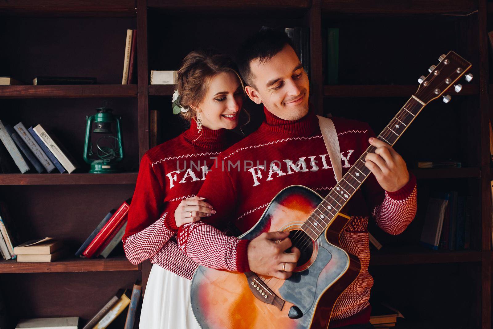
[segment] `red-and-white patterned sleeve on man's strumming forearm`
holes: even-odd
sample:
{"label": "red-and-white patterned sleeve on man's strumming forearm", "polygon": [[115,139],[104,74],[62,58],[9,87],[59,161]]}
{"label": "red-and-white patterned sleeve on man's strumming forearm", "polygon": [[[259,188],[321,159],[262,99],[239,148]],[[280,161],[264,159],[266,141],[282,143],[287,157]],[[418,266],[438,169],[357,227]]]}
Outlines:
{"label": "red-and-white patterned sleeve on man's strumming forearm", "polygon": [[249,240],[227,236],[202,221],[180,226],[178,246],[198,264],[228,271],[249,271],[246,250]]}

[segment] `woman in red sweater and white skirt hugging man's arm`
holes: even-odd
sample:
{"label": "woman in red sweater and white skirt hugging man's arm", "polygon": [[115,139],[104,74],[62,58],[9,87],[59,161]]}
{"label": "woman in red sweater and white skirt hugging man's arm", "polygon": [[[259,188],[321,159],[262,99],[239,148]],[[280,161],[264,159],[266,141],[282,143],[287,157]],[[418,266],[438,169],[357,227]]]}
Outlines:
{"label": "woman in red sweater and white skirt hugging man's arm", "polygon": [[[244,100],[234,63],[211,51],[185,57],[177,87],[173,111],[190,121],[190,128],[142,157],[123,237],[132,263],[147,258],[153,263],[141,312],[140,328],[145,329],[200,328],[189,302],[198,265],[178,250],[176,230],[215,213],[195,194],[213,157],[238,140],[230,130],[238,125]],[[178,203],[182,212],[175,218]]]}

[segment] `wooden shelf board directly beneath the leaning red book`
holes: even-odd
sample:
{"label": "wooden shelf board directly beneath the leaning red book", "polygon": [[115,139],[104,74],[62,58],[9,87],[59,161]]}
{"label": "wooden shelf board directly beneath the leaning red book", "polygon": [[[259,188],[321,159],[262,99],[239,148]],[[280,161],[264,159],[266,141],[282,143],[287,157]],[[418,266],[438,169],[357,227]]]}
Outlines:
{"label": "wooden shelf board directly beneath the leaning red book", "polygon": [[0,273],[58,273],[58,272],[105,272],[138,271],[140,265],[134,265],[124,256],[114,258],[69,258],[53,262],[17,262],[0,260]]}

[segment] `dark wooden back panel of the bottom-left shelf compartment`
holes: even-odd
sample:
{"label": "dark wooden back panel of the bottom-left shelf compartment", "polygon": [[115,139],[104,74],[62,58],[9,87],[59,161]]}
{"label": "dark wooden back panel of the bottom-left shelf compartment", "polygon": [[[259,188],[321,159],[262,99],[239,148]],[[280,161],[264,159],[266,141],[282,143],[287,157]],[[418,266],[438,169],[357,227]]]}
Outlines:
{"label": "dark wooden back panel of the bottom-left shelf compartment", "polygon": [[[19,318],[80,317],[81,324],[105,306],[118,289],[132,289],[138,271],[1,274],[7,313]],[[123,328],[127,311],[108,328]],[[80,327],[82,328],[82,327]]]}

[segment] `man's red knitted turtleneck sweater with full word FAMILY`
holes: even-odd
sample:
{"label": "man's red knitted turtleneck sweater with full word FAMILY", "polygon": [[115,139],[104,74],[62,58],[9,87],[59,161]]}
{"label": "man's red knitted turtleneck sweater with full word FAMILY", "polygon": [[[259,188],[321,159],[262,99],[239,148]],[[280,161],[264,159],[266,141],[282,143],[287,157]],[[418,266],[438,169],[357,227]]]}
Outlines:
{"label": "man's red knitted turtleneck sweater with full word FAMILY", "polygon": [[[246,232],[282,188],[300,184],[326,196],[336,183],[313,110],[297,121],[282,120],[264,111],[266,121],[256,132],[218,156],[197,193],[205,197],[217,213],[201,222],[185,224],[178,231],[180,249],[201,265],[230,271],[248,270],[249,241],[238,242],[215,227],[222,229],[226,223],[233,222]],[[368,138],[374,135],[365,123],[332,119],[339,137],[344,175],[369,145]],[[245,169],[245,165],[249,168]],[[362,195],[356,193],[344,209],[352,215],[352,220],[342,233],[341,244],[359,257],[361,272],[338,299],[332,313],[336,321],[331,322],[331,327],[369,320],[368,299],[373,285],[368,273],[370,212],[377,224],[390,234],[401,233],[416,214],[414,176],[399,191],[384,192],[370,175],[362,186]],[[168,216],[173,214],[170,208]]]}

